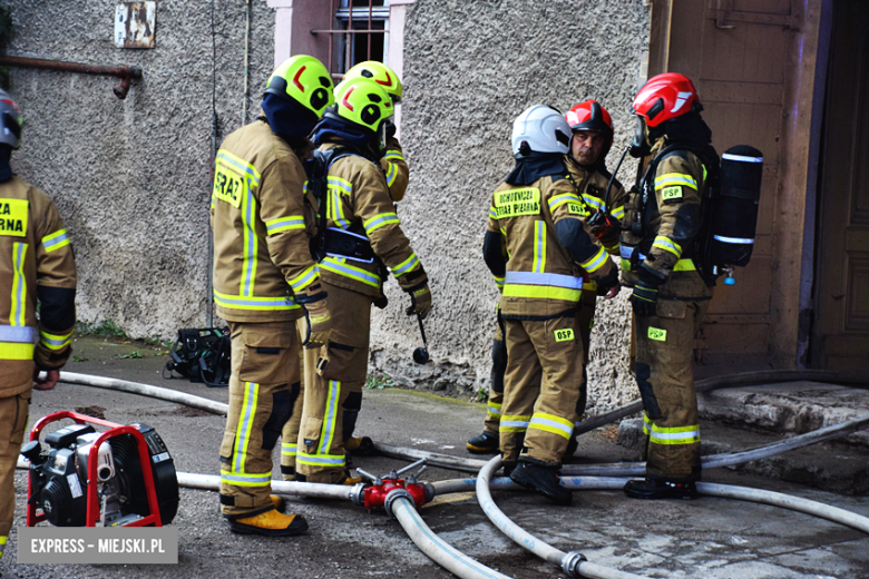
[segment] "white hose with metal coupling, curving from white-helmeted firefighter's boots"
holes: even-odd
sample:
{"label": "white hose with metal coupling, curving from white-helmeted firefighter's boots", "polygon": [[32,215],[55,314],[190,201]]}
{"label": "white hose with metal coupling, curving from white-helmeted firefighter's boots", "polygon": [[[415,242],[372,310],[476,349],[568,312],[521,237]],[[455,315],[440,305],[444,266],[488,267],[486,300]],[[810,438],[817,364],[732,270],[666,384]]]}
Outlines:
{"label": "white hose with metal coupling, curving from white-helmeted firefighter's boots", "polygon": [[[618,569],[611,569],[608,567],[602,567],[599,565],[592,563],[585,560],[585,557],[578,552],[570,551],[564,552],[556,549],[551,544],[541,541],[534,534],[529,533],[515,522],[512,522],[504,512],[495,504],[489,492],[489,480],[492,473],[501,465],[501,458],[495,457],[486,467],[480,469],[480,473],[477,477],[477,502],[480,503],[482,512],[486,517],[501,530],[504,534],[512,539],[520,547],[531,551],[537,557],[555,563],[562,567],[562,570],[570,577],[592,577],[594,579],[637,579],[642,576],[619,571]],[[624,485],[624,481],[622,482]]]}

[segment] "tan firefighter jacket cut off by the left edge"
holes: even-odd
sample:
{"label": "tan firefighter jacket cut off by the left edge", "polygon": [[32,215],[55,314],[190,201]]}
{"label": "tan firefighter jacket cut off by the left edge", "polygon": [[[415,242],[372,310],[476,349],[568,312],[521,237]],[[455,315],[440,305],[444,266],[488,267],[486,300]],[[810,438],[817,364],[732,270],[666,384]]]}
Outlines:
{"label": "tan firefighter jacket cut off by the left edge", "polygon": [[0,398],[28,392],[35,364],[60,369],[75,325],[69,234],[48,195],[13,176],[0,183]]}

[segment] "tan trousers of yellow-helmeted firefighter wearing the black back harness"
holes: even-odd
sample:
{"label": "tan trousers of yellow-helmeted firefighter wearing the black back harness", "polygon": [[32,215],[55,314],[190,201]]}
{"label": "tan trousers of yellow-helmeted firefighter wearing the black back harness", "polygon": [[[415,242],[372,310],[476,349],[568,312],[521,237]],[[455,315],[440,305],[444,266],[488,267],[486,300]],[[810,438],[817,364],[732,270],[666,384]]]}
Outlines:
{"label": "tan trousers of yellow-helmeted firefighter wearing the black back harness", "polygon": [[373,298],[321,283],[329,292],[332,335],[328,345],[305,351],[296,469],[307,482],[335,483],[344,477],[344,442],[362,406]]}

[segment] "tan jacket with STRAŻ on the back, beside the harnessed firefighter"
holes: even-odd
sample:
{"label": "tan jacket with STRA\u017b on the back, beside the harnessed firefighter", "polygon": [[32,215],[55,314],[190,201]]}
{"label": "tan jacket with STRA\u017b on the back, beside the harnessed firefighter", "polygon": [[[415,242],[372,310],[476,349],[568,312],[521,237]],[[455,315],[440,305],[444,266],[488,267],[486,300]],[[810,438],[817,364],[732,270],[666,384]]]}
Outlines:
{"label": "tan jacket with STRA\u017b on the back, beside the harnessed firefighter", "polygon": [[311,257],[314,203],[302,161],[268,124],[256,120],[221,145],[214,167],[214,301],[231,322],[281,322],[303,315],[316,295]]}

